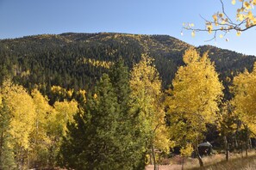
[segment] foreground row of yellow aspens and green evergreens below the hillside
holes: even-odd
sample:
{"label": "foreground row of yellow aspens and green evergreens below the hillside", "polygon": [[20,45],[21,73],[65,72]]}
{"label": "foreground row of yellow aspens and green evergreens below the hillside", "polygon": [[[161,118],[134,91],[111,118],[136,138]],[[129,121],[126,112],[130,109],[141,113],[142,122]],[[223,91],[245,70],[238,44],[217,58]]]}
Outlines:
{"label": "foreground row of yellow aspens and green evergreens below the hillside", "polygon": [[[5,79],[1,86],[0,169],[144,169],[174,147],[190,156],[215,130],[228,152],[251,146],[255,134],[255,67],[234,77],[234,97],[207,53],[184,52],[171,88],[163,90],[153,58],[131,70],[120,58],[86,93],[51,87],[51,98]],[[38,87],[40,88],[40,87]]]}

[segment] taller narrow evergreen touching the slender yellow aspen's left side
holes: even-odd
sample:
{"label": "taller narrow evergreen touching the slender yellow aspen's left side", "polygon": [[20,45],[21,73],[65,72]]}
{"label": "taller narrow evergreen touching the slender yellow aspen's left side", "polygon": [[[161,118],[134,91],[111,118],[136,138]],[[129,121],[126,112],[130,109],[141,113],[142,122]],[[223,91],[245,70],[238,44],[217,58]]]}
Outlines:
{"label": "taller narrow evergreen touching the slender yellow aspen's left side", "polygon": [[136,126],[131,113],[132,101],[128,67],[124,66],[122,58],[111,67],[109,78],[115,90],[120,109],[117,137],[122,150],[118,153],[118,162],[123,169],[140,169],[140,167],[144,169],[144,153],[140,150],[140,138],[136,137]]}

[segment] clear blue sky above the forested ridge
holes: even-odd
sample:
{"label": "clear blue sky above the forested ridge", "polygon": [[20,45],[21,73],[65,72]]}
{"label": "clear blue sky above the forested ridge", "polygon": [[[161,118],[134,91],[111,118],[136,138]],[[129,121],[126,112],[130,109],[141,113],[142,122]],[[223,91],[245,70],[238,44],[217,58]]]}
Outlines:
{"label": "clear blue sky above the forested ridge", "polygon": [[[231,0],[223,0],[227,13],[234,16]],[[225,39],[205,42],[212,34],[189,31],[181,36],[183,22],[204,27],[199,15],[211,18],[222,8],[219,0],[0,0],[0,39],[41,33],[141,33],[168,34],[193,46],[209,44],[256,55],[255,28],[228,33]]]}

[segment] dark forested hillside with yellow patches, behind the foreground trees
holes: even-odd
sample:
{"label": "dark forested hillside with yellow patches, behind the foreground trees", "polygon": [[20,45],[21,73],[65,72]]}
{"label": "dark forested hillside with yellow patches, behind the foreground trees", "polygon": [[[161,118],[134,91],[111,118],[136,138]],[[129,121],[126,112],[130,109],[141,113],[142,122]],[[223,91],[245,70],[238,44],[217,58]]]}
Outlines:
{"label": "dark forested hillside with yellow patches, behind the foreground trees", "polygon": [[[123,58],[130,69],[140,61],[141,53],[147,53],[155,59],[166,88],[178,66],[184,64],[182,55],[189,46],[168,35],[126,33],[62,33],[3,39],[0,40],[0,80],[11,76],[28,89],[37,84],[44,94],[53,85],[88,89],[118,58]],[[215,62],[225,87],[237,72],[253,68],[253,56],[214,46],[198,48],[202,53],[209,50],[209,58]]]}

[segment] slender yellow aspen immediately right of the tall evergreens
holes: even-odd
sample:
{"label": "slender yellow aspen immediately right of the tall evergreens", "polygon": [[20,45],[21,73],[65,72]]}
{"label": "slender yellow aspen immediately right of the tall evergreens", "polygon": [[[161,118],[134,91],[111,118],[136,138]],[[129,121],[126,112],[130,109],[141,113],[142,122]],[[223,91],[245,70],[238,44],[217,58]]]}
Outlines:
{"label": "slender yellow aspen immediately right of the tall evergreens", "polygon": [[141,147],[150,149],[154,157],[154,148],[168,150],[169,140],[165,128],[165,112],[161,106],[161,80],[152,58],[141,56],[140,63],[135,64],[131,72],[130,85]]}

